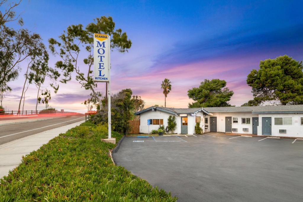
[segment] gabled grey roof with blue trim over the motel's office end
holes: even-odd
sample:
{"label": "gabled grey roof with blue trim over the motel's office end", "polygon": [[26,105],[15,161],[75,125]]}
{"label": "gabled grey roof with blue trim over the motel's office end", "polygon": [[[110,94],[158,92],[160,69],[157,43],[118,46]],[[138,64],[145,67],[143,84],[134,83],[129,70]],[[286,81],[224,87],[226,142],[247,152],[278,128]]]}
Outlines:
{"label": "gabled grey roof with blue trim over the motel's office end", "polygon": [[149,107],[146,108],[144,110],[138,111],[135,113],[135,115],[140,115],[141,113],[148,111],[148,110],[152,110],[152,109],[156,109],[159,111],[164,111],[170,114],[196,114],[199,111],[203,111],[205,114],[209,114],[208,111],[206,111],[204,108],[168,108],[168,107]]}

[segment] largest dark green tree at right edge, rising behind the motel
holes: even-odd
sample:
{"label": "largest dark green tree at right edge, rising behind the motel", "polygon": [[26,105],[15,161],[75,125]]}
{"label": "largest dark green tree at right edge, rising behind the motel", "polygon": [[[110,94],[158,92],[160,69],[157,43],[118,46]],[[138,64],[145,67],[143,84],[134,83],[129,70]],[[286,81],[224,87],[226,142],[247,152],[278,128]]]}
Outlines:
{"label": "largest dark green tree at right edge, rising behind the motel", "polygon": [[247,84],[258,101],[276,101],[279,104],[303,104],[302,61],[288,55],[260,61],[260,69],[253,69]]}

